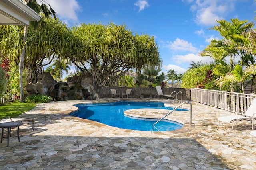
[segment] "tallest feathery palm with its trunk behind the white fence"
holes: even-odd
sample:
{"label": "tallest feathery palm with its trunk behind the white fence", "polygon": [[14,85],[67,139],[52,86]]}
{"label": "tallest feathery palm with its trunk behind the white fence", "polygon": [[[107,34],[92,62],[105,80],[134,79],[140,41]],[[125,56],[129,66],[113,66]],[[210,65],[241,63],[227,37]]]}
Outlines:
{"label": "tallest feathery palm with its trunk behind the white fence", "polygon": [[[219,25],[212,27],[211,29],[219,31],[220,35],[224,38],[222,40],[213,39],[211,44],[200,53],[202,56],[210,56],[216,61],[224,60],[226,57],[230,59],[230,72],[228,72],[228,77],[233,74],[235,66],[235,57],[239,57],[238,64],[240,66],[248,66],[253,62],[252,53],[252,43],[250,41],[250,29],[254,27],[254,23],[248,22],[248,20],[238,20],[231,19],[231,22],[225,20],[217,21]],[[219,62],[222,64],[221,62]],[[219,68],[224,68],[224,65],[218,66]],[[226,72],[227,69],[224,69]],[[231,92],[234,92],[234,82],[231,83]]]}

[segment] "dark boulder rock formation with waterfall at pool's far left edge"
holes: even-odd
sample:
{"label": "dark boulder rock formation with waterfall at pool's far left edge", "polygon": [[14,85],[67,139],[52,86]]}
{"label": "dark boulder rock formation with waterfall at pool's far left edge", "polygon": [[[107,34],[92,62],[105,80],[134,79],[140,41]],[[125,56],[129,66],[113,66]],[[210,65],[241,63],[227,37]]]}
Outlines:
{"label": "dark boulder rock formation with waterfall at pool's far left edge", "polygon": [[28,96],[44,94],[55,100],[91,100],[98,98],[92,85],[91,76],[74,76],[67,82],[57,82],[48,72],[38,76],[36,84],[28,83],[25,90]]}

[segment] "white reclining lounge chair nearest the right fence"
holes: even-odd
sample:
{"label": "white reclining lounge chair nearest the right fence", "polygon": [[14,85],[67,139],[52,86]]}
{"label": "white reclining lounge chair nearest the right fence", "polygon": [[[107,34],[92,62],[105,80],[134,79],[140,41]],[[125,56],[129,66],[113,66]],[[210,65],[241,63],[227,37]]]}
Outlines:
{"label": "white reclining lounge chair nearest the right fence", "polygon": [[253,119],[256,119],[256,98],[252,100],[252,103],[250,107],[247,109],[245,113],[241,113],[240,111],[236,111],[236,115],[232,116],[224,116],[218,118],[218,125],[220,126],[220,121],[231,123],[232,124],[232,130],[233,130],[233,123],[234,121],[238,120],[247,120],[252,123],[252,130],[253,130]]}

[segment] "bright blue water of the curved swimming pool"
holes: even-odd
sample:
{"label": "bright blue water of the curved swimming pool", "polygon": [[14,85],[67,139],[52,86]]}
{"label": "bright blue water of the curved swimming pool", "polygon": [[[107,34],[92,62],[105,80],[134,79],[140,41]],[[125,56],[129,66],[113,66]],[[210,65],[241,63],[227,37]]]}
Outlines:
{"label": "bright blue water of the curved swimming pool", "polygon": [[[162,120],[156,124],[157,129],[152,129],[152,125],[156,123],[158,119],[144,119],[124,115],[124,111],[129,109],[154,108],[167,109],[170,111],[174,109],[172,107],[165,107],[164,103],[161,102],[121,101],[98,104],[77,104],[75,106],[79,108],[78,111],[71,113],[71,115],[75,117],[89,119],[123,129],[140,131],[173,131],[184,127],[184,125],[175,121]],[[177,110],[185,111],[186,109]]]}

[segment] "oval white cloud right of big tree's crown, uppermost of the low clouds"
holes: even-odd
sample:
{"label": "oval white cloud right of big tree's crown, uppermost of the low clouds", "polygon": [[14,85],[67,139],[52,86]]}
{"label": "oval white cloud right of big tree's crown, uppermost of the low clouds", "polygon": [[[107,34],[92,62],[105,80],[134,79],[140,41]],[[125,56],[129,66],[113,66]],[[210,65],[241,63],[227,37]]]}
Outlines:
{"label": "oval white cloud right of big tree's crown, uppermost of the low clouds", "polygon": [[174,42],[168,41],[167,47],[172,50],[180,50],[180,51],[189,51],[192,53],[196,53],[198,49],[196,47],[193,47],[192,43],[189,43],[188,41],[185,41],[183,39],[176,38]]}

